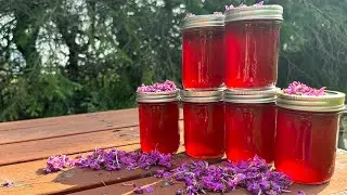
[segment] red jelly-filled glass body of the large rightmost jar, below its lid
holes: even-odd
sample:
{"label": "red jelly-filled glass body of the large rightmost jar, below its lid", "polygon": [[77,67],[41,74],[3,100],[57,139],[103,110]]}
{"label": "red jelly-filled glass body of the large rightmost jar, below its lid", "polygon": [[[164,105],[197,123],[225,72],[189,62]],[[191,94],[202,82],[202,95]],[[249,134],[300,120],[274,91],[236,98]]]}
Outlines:
{"label": "red jelly-filled glass body of the large rightmost jar, below its lid", "polygon": [[274,166],[294,182],[320,184],[334,172],[339,114],[278,108]]}

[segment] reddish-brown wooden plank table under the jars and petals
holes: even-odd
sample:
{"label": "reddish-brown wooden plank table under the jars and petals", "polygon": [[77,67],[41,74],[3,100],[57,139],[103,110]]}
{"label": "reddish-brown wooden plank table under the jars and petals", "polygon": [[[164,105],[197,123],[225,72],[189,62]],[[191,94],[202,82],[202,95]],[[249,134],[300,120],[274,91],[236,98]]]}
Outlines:
{"label": "reddish-brown wooden plank table under the jars and petals", "polygon": [[[182,128],[182,121],[180,121]],[[139,145],[138,110],[123,109],[94,114],[0,123],[0,183],[14,181],[13,187],[0,186],[0,195],[30,194],[131,194],[124,183],[153,185],[154,194],[175,194],[182,184],[162,187],[159,179],[151,177],[154,169],[92,171],[72,168],[44,174],[47,158],[51,155],[76,156],[98,148],[117,147],[133,151]],[[183,152],[183,147],[180,147]],[[188,160],[184,153],[176,161]],[[316,186],[293,185],[307,194],[347,194],[347,154],[338,151],[335,174],[330,183]],[[344,193],[345,192],[345,193]],[[247,194],[243,190],[237,193]]]}

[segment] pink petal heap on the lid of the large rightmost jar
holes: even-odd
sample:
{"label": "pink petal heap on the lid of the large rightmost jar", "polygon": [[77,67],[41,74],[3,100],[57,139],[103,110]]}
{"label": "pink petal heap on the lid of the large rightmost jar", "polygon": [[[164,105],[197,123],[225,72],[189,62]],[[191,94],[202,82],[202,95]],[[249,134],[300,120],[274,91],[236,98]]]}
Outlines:
{"label": "pink petal heap on the lid of the large rightmost jar", "polygon": [[308,87],[299,81],[293,81],[288,84],[288,88],[284,89],[283,92],[286,94],[295,94],[295,95],[310,95],[310,96],[321,96],[324,95],[325,87],[320,89],[314,89]]}

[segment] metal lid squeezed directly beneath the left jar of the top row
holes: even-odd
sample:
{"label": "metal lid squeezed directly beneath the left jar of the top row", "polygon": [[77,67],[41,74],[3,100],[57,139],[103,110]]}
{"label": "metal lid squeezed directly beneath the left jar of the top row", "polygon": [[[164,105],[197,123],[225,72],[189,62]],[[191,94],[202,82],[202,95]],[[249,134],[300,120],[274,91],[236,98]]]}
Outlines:
{"label": "metal lid squeezed directly beneath the left jar of the top row", "polygon": [[181,99],[183,102],[193,102],[193,103],[219,102],[223,100],[223,91],[221,90],[214,90],[214,91],[182,90]]}

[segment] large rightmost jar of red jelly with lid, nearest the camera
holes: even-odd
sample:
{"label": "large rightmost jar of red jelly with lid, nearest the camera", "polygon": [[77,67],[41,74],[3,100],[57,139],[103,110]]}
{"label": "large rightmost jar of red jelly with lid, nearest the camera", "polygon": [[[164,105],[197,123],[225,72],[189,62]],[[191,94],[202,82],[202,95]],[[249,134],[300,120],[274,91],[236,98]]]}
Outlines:
{"label": "large rightmost jar of red jelly with lid, nearest the camera", "polygon": [[345,94],[279,93],[274,166],[294,182],[320,184],[334,172],[339,115]]}

